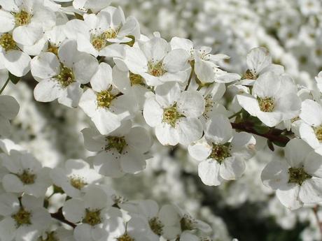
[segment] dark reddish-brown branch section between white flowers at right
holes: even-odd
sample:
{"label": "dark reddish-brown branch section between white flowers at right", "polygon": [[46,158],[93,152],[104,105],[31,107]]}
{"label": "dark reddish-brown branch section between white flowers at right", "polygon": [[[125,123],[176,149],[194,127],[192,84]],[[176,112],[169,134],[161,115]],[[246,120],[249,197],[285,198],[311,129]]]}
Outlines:
{"label": "dark reddish-brown branch section between white flowers at right", "polygon": [[255,135],[262,136],[272,141],[272,143],[278,142],[286,145],[290,140],[287,136],[281,135],[283,131],[280,129],[271,128],[267,133],[258,133],[258,131],[253,129],[253,124],[251,123],[240,122],[240,123],[231,123],[231,124],[233,129],[236,129],[239,131],[246,131],[247,133],[253,133]]}

